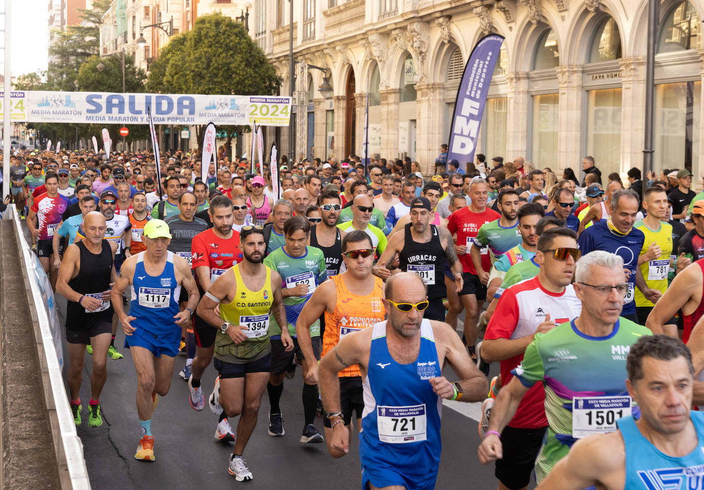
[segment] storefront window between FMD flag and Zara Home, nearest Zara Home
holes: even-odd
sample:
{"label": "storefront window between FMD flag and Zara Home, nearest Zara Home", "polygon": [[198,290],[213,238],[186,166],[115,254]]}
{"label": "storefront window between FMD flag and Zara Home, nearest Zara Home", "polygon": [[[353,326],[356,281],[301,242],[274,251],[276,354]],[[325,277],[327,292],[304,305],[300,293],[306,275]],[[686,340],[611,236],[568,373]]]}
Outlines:
{"label": "storefront window between FMD flag and Zara Home, nearest Zara Home", "polygon": [[533,96],[533,138],[531,160],[536,168],[558,165],[558,94]]}

